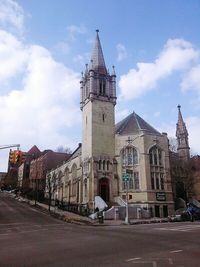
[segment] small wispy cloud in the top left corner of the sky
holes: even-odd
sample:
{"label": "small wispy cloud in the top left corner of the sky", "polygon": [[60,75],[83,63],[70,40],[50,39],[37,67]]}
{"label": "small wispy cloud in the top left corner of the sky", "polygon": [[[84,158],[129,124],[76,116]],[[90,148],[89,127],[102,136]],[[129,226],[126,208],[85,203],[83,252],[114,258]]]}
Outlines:
{"label": "small wispy cloud in the top left corner of the sky", "polygon": [[16,1],[0,0],[0,25],[23,32],[24,10]]}

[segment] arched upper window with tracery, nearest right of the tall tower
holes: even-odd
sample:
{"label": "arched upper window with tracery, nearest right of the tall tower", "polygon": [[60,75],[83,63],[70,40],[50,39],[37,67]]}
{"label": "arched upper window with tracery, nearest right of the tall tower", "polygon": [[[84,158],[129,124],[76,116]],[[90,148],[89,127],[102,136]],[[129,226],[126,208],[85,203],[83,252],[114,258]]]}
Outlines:
{"label": "arched upper window with tracery, nearest right of the tall tower", "polygon": [[122,164],[126,166],[138,164],[138,152],[134,147],[128,146],[122,150]]}

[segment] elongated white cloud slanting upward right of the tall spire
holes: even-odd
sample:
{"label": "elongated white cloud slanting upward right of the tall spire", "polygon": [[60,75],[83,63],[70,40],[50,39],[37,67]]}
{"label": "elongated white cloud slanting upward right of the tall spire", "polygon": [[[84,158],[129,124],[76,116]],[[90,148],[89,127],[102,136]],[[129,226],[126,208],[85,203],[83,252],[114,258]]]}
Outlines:
{"label": "elongated white cloud slanting upward right of the tall spire", "polygon": [[133,99],[154,89],[159,80],[174,71],[189,67],[199,57],[199,51],[183,39],[169,39],[163,50],[152,63],[137,63],[137,69],[130,69],[120,77],[121,97]]}

